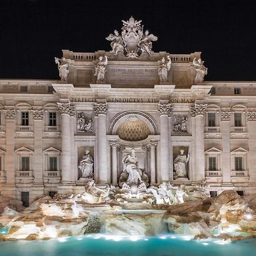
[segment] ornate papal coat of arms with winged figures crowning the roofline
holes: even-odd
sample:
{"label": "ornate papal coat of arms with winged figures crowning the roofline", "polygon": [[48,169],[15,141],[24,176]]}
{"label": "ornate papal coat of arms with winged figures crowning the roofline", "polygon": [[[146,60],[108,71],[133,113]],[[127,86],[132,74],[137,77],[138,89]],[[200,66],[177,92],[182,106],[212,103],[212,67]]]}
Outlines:
{"label": "ornate papal coat of arms with winged figures crowning the roofline", "polygon": [[112,41],[112,53],[117,57],[119,54],[126,57],[139,57],[146,54],[150,57],[152,51],[152,41],[158,40],[153,34],[149,34],[148,30],[143,32],[142,20],[134,20],[133,16],[127,21],[122,20],[122,33],[119,35],[115,30],[114,34],[110,34],[106,39]]}

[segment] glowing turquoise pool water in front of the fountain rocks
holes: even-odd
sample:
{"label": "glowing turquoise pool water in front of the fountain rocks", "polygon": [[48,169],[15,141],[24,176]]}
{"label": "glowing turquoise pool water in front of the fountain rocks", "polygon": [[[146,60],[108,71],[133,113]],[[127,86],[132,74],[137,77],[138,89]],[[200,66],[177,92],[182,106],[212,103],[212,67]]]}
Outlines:
{"label": "glowing turquoise pool water in front of the fountain rocks", "polygon": [[0,242],[4,256],[241,256],[255,255],[256,240],[189,240],[188,236],[89,235],[38,241]]}

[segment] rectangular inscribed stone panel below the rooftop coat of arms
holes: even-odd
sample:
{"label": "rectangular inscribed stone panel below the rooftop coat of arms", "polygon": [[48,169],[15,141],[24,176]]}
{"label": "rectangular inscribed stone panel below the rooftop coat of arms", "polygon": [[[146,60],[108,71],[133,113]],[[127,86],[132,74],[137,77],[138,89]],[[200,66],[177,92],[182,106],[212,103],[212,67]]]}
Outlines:
{"label": "rectangular inscribed stone panel below the rooftop coat of arms", "polygon": [[108,68],[106,80],[109,84],[158,84],[158,69]]}

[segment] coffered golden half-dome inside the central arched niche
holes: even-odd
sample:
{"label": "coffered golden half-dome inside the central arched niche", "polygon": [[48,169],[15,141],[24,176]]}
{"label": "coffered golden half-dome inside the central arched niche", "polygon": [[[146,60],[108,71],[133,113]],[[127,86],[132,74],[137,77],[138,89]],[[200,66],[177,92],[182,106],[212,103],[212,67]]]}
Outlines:
{"label": "coffered golden half-dome inside the central arched niche", "polygon": [[129,117],[117,129],[119,138],[125,141],[142,141],[150,135],[150,129],[138,117]]}

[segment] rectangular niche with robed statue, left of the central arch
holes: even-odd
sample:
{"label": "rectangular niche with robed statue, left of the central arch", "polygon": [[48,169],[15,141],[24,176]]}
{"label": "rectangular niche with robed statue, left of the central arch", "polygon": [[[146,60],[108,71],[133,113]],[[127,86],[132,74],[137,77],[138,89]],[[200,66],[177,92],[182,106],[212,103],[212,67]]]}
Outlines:
{"label": "rectangular niche with robed statue, left of the central arch", "polygon": [[78,179],[93,179],[94,150],[93,147],[79,147],[78,150]]}

